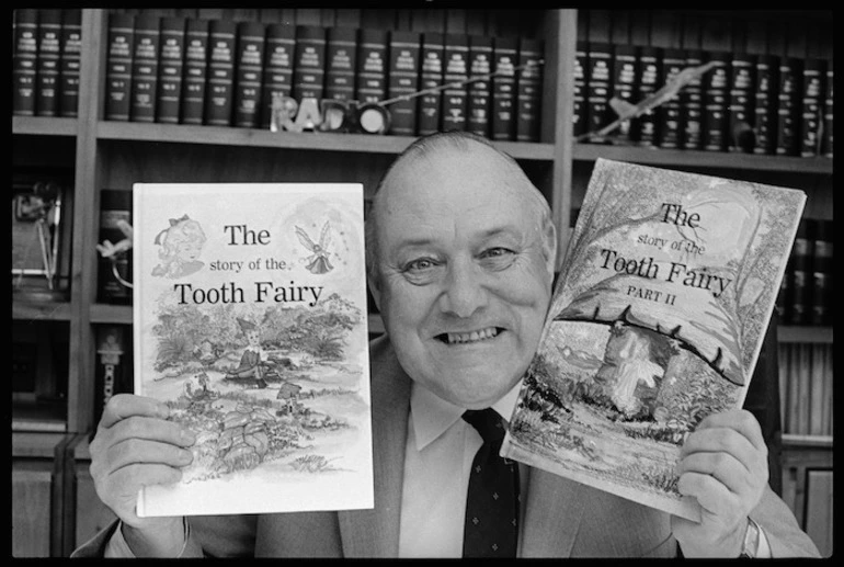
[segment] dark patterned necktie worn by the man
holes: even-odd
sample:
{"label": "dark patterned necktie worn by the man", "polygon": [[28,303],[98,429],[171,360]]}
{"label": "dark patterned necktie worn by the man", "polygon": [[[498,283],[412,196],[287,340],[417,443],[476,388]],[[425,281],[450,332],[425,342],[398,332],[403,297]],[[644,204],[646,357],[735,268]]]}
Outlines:
{"label": "dark patterned necktie worn by the man", "polygon": [[464,557],[515,557],[518,537],[518,465],[499,456],[504,424],[493,409],[463,419],[483,438],[475,454],[466,498]]}

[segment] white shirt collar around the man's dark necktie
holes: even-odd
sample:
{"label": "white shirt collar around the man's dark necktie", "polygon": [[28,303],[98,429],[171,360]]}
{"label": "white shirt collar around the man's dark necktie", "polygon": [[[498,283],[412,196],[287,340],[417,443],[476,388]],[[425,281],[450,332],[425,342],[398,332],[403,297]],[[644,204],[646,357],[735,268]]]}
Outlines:
{"label": "white shirt collar around the man's dark necktie", "polygon": [[[507,423],[513,415],[521,388],[522,381],[520,379],[510,392],[492,405],[492,409]],[[410,410],[417,451],[422,451],[454,426],[466,411],[466,408],[455,406],[413,382],[410,390]]]}

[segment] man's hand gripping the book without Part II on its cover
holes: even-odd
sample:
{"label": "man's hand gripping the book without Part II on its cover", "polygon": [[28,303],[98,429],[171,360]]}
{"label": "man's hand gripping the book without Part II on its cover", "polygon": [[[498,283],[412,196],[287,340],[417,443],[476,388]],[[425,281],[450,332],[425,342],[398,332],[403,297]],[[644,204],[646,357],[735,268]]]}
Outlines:
{"label": "man's hand gripping the book without Part II on its cover", "polygon": [[178,481],[180,467],[193,460],[185,447],[194,434],[167,421],[168,415],[168,407],[152,398],[115,395],[90,446],[96,495],[124,522],[126,542],[138,556],[178,554],[184,543],[182,518],[135,513],[140,487]]}

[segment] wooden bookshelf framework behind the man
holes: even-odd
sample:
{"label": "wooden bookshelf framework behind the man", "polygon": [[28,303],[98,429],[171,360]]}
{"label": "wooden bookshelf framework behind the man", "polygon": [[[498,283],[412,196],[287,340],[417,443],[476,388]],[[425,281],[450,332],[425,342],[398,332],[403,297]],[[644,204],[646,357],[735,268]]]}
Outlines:
{"label": "wooden bookshelf framework behind the man", "polygon": [[[125,10],[138,14],[142,10]],[[703,150],[672,150],[641,147],[604,146],[575,143],[571,132],[575,43],[586,39],[636,41],[666,47],[672,43],[686,46],[695,38],[677,32],[677,21],[695,20],[695,11],[676,13],[628,11],[609,16],[607,12],[578,10],[441,10],[441,9],[160,9],[160,15],[223,18],[236,22],[260,21],[266,24],[288,22],[301,25],[349,25],[381,30],[479,35],[526,36],[544,42],[544,94],[541,125],[537,141],[495,141],[502,150],[520,161],[528,177],[551,205],[560,235],[560,256],[571,230],[571,214],[582,202],[592,163],[598,157],[639,163],[739,175],[761,182],[790,186],[809,193],[807,214],[832,217],[832,160],[754,156]],[[774,11],[776,12],[776,11]],[[597,14],[597,15],[596,15]],[[794,49],[810,49],[817,25],[816,15],[790,15],[799,25],[788,37]],[[272,133],[260,128],[209,125],[114,122],[104,120],[105,76],[107,64],[107,10],[82,10],[81,72],[77,117],[13,116],[13,165],[61,166],[72,170],[73,209],[70,235],[69,295],[64,302],[43,302],[37,297],[15,294],[12,298],[13,322],[55,325],[64,330],[67,370],[55,381],[66,389],[59,421],[64,431],[13,431],[13,470],[23,478],[27,467],[37,463],[41,500],[43,489],[58,490],[47,514],[50,533],[48,553],[67,555],[92,531],[109,520],[95,498],[91,498],[87,476],[88,440],[95,429],[95,375],[98,366],[98,331],[109,326],[132,325],[132,308],[98,302],[98,242],[100,192],[103,189],[128,190],[134,182],[163,181],[350,181],[362,182],[367,194],[392,159],[413,139],[412,136]],[[765,29],[776,29],[779,19],[752,12],[707,13],[706,22],[720,18],[725,22],[759,19]],[[738,19],[737,19],[738,18]],[[773,19],[772,19],[773,18]],[[597,22],[597,23],[596,23]],[[604,23],[602,23],[604,22]],[[772,23],[773,22],[773,23]],[[756,37],[752,26],[734,24],[730,41],[742,30]],[[697,43],[715,42],[717,27],[702,23]],[[799,31],[802,32],[799,32]],[[602,35],[603,34],[603,35]],[[727,32],[718,41],[726,42]],[[802,34],[802,35],[800,35]],[[816,34],[817,35],[817,34]],[[710,37],[711,36],[711,37]],[[704,42],[704,37],[709,37]],[[774,35],[766,36],[773,42]],[[749,42],[751,39],[748,39]],[[732,44],[730,44],[732,45]],[[791,44],[788,44],[791,45]],[[800,47],[802,46],[802,47]],[[783,48],[786,48],[783,39]],[[823,46],[811,47],[822,52]],[[46,149],[46,151],[45,151]],[[318,168],[315,165],[319,165]],[[370,331],[383,331],[379,317],[369,316]],[[832,345],[829,327],[783,327],[782,343],[823,343]],[[22,408],[13,405],[13,418]],[[37,409],[35,408],[37,420]],[[45,421],[53,418],[44,413]],[[27,415],[27,419],[32,416]],[[818,445],[820,443],[820,445]],[[790,438],[789,446],[810,447],[831,454],[831,440]],[[45,480],[46,478],[46,480]],[[46,483],[46,484],[45,484]],[[59,486],[60,485],[60,486]],[[18,484],[14,485],[15,487]],[[16,490],[15,498],[18,498]],[[25,495],[32,490],[26,489]],[[78,494],[77,494],[78,492]],[[72,497],[77,494],[76,499]],[[85,495],[88,495],[85,497]],[[30,498],[30,496],[26,496]],[[47,499],[49,502],[49,499]],[[42,507],[42,503],[34,506]],[[92,520],[95,518],[96,520]],[[37,528],[37,529],[36,529]],[[37,535],[43,524],[22,537]],[[45,548],[30,546],[25,555],[42,555]]]}

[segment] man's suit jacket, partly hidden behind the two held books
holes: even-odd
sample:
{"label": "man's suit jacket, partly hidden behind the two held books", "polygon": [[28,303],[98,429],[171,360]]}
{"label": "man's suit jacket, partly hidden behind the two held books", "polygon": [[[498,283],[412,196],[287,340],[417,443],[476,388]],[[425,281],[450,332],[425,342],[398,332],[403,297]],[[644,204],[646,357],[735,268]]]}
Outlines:
{"label": "man's suit jacket, partly hidden behind the two held books", "polygon": [[[340,512],[193,517],[185,555],[396,557],[399,549],[410,378],[386,337],[370,344],[375,508]],[[524,557],[674,557],[669,514],[528,468],[520,542]],[[817,556],[787,506],[768,488],[751,517],[775,557]],[[101,556],[116,528],[75,552]]]}

